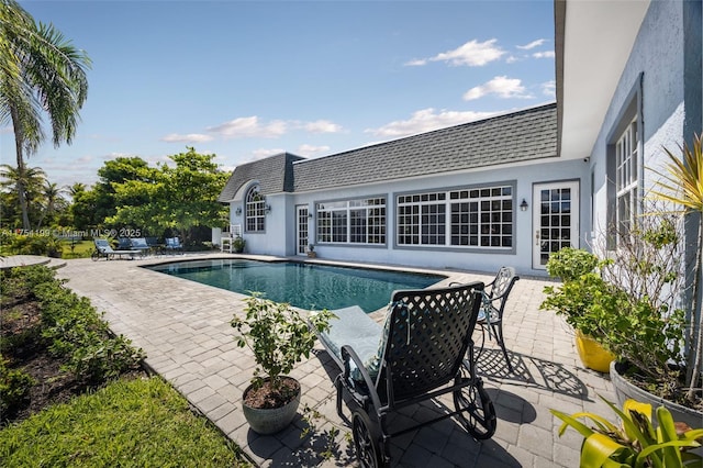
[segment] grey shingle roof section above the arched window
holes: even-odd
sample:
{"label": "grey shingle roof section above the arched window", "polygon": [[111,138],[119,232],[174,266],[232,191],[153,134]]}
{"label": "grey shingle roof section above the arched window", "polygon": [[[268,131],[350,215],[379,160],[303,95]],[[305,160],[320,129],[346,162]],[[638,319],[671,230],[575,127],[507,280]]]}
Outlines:
{"label": "grey shingle roof section above the arched window", "polygon": [[293,161],[303,159],[290,153],[281,153],[266,159],[237,166],[225,185],[217,201],[228,202],[234,199],[243,185],[259,181],[261,194],[293,191]]}

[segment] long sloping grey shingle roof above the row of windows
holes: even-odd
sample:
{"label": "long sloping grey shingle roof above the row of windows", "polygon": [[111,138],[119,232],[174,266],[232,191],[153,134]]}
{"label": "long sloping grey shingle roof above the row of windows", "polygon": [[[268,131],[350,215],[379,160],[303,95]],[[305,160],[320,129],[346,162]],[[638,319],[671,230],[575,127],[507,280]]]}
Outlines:
{"label": "long sloping grey shingle roof above the row of windows", "polygon": [[293,165],[294,191],[557,157],[550,103]]}

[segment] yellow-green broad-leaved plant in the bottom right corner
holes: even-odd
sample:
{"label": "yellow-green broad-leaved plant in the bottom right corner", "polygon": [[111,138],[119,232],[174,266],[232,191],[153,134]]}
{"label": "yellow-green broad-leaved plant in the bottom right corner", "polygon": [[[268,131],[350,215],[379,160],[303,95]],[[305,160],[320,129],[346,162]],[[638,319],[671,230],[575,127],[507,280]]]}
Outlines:
{"label": "yellow-green broad-leaved plant in the bottom right corner", "polygon": [[[559,427],[559,436],[571,426],[584,438],[581,446],[582,468],[589,467],[652,467],[674,468],[701,466],[700,455],[688,452],[700,447],[698,441],[703,439],[703,428],[691,428],[682,423],[674,423],[671,413],[663,406],[657,409],[658,427],[651,422],[651,405],[635,400],[627,400],[623,410],[601,398],[620,417],[617,426],[606,419],[589,412],[568,415],[557,410],[551,414],[563,423]],[[590,420],[594,426],[589,427],[579,419]]]}

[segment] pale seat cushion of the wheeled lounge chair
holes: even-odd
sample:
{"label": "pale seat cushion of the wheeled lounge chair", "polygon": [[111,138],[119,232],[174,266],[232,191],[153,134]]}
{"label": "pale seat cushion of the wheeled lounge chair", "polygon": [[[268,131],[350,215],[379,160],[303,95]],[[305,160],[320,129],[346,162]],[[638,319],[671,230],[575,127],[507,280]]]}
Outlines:
{"label": "pale seat cushion of the wheeled lounge chair", "polygon": [[[359,356],[371,379],[378,376],[383,353],[383,326],[373,321],[361,308],[352,305],[332,311],[336,319],[330,321],[330,331],[320,334],[320,341],[342,363],[342,346],[349,345]],[[361,375],[350,363],[352,377],[361,380]]]}

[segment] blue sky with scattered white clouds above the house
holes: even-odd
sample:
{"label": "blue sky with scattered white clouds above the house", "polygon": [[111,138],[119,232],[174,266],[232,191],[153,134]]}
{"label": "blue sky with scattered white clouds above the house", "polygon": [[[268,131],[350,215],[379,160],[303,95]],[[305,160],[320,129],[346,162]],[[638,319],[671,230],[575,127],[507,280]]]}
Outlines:
{"label": "blue sky with scattered white clouds above the house", "polygon": [[[225,170],[322,157],[555,101],[554,2],[40,1],[92,60],[71,145],[29,158],[86,185],[192,146]],[[45,132],[51,130],[45,126]],[[11,126],[0,159],[15,165]]]}

